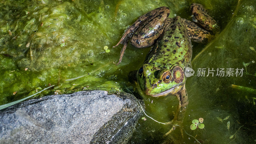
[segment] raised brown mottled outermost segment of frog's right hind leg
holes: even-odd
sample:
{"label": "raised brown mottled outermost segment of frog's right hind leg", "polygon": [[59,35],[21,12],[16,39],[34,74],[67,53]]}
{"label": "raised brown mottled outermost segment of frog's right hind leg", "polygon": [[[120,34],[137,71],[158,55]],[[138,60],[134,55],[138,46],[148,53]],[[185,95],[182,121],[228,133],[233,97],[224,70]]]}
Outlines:
{"label": "raised brown mottled outermost segment of frog's right hind leg", "polygon": [[190,12],[194,15],[197,22],[207,31],[211,31],[213,34],[220,31],[217,26],[217,22],[207,14],[206,9],[202,4],[193,3],[190,6]]}

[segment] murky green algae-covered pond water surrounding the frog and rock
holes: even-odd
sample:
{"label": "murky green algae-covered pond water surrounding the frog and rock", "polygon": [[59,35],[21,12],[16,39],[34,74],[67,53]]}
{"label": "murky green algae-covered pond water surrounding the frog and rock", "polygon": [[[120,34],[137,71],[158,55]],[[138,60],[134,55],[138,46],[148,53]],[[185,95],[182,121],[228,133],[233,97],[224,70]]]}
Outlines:
{"label": "murky green algae-covered pond water surrounding the frog and rock", "polygon": [[[112,47],[139,16],[157,7],[168,6],[169,17],[191,20],[191,3],[203,4],[221,32],[208,44],[192,42],[195,74],[186,81],[189,104],[182,129],[164,136],[172,126],[143,115],[147,120],[139,120],[129,143],[255,143],[254,0],[1,1],[0,105],[49,85],[55,86],[34,98],[81,90],[131,91],[138,96],[127,75],[141,67],[150,48],[128,44],[116,66],[122,45]],[[205,76],[197,76],[200,68],[205,68]],[[214,76],[207,76],[208,68],[215,70]],[[234,76],[216,75],[218,68],[234,68]],[[243,76],[236,76],[236,68],[244,69]],[[176,97],[143,98],[148,116],[162,123],[172,120]],[[204,129],[191,130],[192,120],[199,118],[204,118]]]}

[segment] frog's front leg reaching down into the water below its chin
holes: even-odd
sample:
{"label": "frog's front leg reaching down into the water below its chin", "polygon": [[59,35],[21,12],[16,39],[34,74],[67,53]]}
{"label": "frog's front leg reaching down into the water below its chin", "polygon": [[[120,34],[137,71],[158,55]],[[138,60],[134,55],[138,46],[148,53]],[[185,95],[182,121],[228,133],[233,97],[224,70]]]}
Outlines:
{"label": "frog's front leg reaching down into the water below its chin", "polygon": [[165,133],[165,136],[167,136],[169,133],[171,133],[175,128],[177,127],[178,124],[181,124],[184,118],[184,113],[186,111],[186,108],[188,106],[188,93],[187,89],[184,86],[181,88],[179,92],[175,94],[177,99],[179,100],[178,108],[176,110],[176,113],[174,115],[174,118],[172,119],[171,122],[168,122],[166,124],[173,124],[171,130],[167,133]]}

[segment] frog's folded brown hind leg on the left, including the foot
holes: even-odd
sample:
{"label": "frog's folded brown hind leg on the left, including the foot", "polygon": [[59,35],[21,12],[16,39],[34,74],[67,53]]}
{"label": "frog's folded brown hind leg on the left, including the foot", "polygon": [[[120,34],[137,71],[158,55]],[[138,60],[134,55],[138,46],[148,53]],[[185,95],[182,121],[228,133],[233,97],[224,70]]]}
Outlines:
{"label": "frog's folded brown hind leg on the left, including the foot", "polygon": [[[122,61],[124,51],[129,39],[131,44],[137,48],[152,46],[156,39],[162,34],[165,27],[165,20],[170,14],[170,9],[166,6],[156,8],[138,18],[124,33],[120,41],[116,44],[123,44],[120,58],[117,65]],[[116,47],[114,46],[114,47]]]}

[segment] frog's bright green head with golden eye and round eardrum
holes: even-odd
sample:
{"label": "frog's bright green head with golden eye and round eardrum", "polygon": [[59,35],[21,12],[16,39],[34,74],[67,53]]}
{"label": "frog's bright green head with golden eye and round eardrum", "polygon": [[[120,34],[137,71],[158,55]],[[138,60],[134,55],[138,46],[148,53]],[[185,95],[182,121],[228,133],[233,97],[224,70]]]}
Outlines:
{"label": "frog's bright green head with golden eye and round eardrum", "polygon": [[179,92],[186,78],[184,67],[178,64],[164,69],[143,64],[137,71],[137,81],[146,95],[158,97]]}

